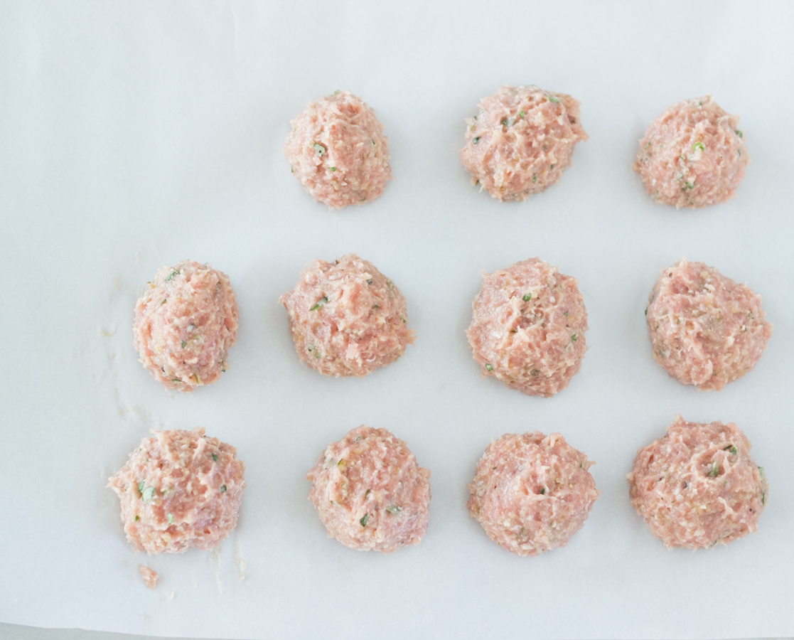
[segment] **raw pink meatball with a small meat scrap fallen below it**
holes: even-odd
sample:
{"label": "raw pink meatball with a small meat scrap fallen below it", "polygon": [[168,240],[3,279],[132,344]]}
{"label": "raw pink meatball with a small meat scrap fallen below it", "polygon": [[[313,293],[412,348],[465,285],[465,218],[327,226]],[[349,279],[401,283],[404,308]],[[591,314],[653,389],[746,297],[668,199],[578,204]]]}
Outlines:
{"label": "raw pink meatball with a small meat scrap fallen below it", "polygon": [[127,540],[146,553],[211,549],[237,524],[245,465],[237,449],[192,431],[157,431],[129,454],[108,486]]}

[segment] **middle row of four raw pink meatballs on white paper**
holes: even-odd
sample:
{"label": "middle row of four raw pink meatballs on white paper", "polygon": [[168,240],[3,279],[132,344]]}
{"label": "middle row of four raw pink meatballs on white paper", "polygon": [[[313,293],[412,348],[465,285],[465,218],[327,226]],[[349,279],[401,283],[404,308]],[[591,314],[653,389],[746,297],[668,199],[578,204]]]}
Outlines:
{"label": "middle row of four raw pink meatballs on white paper", "polygon": [[[310,263],[279,302],[299,359],[324,376],[365,376],[414,341],[403,294],[354,254]],[[227,370],[237,318],[229,277],[185,260],[161,269],[138,299],[134,345],[166,388],[193,391]],[[698,389],[749,372],[772,335],[761,296],[687,260],[661,272],[646,321],[657,363]],[[587,329],[576,279],[534,258],[484,275],[466,333],[483,376],[548,397],[579,371]]]}

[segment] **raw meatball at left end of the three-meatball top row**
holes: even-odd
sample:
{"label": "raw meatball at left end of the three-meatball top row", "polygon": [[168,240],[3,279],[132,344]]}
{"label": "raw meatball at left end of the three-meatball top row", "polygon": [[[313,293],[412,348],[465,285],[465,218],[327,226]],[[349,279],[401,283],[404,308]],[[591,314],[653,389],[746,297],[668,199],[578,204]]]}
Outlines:
{"label": "raw meatball at left end of the three-meatball top row", "polygon": [[291,124],[284,156],[315,200],[341,209],[384,192],[391,180],[387,137],[361,98],[336,91],[310,102]]}

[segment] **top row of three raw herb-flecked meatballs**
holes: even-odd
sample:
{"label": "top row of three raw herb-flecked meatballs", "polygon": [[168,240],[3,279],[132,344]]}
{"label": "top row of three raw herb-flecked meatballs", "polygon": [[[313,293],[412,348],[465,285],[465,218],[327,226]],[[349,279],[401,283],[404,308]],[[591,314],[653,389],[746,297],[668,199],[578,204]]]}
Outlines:
{"label": "top row of three raw herb-flecked meatballs", "polygon": [[[500,87],[466,118],[461,163],[500,201],[559,182],[588,139],[580,102],[530,87]],[[738,116],[710,95],[669,106],[640,141],[634,171],[659,204],[698,208],[733,198],[750,162]],[[384,126],[360,98],[336,91],[311,102],[284,143],[291,172],[318,202],[341,209],[379,197],[391,179]]]}

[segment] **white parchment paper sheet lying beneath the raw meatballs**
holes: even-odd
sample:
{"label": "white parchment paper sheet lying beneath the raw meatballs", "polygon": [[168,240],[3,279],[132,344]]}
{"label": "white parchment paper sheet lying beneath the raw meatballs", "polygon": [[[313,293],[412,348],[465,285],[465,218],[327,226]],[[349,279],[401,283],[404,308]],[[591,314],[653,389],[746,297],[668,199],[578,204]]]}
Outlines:
{"label": "white parchment paper sheet lying beneath the raw meatballs", "polygon": [[[384,3],[385,5],[385,3]],[[736,638],[794,634],[791,104],[794,5],[747,2],[15,3],[0,18],[0,621],[225,638]],[[590,140],[527,202],[478,193],[463,118],[504,83],[582,101]],[[341,212],[281,155],[289,121],[350,89],[395,175]],[[738,198],[655,206],[631,163],[661,111],[711,93],[741,114]],[[363,380],[299,364],[276,299],[355,251],[407,297],[418,339]],[[481,380],[466,344],[480,272],[541,256],[589,312],[581,372],[553,399]],[[748,376],[699,393],[653,362],[643,310],[661,268],[715,265],[775,326]],[[190,258],[229,274],[231,369],[193,395],[137,363],[133,307]],[[757,534],[668,551],[630,507],[638,447],[680,412],[745,430],[771,486]],[[361,422],[432,471],[418,546],[326,538],[304,474]],[[106,480],[151,429],[205,426],[248,470],[217,553],[133,553]],[[491,438],[560,431],[603,492],[565,549],[516,557],[468,518]],[[245,581],[240,580],[245,561]],[[137,574],[160,572],[149,591]]]}

